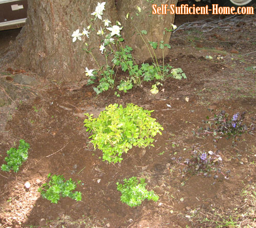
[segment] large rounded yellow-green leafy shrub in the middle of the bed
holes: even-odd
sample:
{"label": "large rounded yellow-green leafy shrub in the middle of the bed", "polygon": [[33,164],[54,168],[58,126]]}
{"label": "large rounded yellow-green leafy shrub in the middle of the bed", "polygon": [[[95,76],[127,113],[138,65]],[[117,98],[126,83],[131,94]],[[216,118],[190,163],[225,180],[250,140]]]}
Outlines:
{"label": "large rounded yellow-green leafy shrub in the middle of the bed", "polygon": [[98,118],[85,113],[88,119],[84,120],[84,126],[93,132],[91,143],[95,149],[102,150],[103,161],[121,162],[122,153],[127,153],[133,146],[154,146],[153,137],[162,134],[163,127],[151,117],[153,111],[134,104],[127,104],[126,108],[110,104]]}

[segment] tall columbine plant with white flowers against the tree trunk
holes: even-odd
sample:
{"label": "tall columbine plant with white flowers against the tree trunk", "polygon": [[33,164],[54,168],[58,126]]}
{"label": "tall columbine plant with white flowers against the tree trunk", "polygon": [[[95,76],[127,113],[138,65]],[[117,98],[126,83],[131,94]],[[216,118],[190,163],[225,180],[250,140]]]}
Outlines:
{"label": "tall columbine plant with white flowers against the tree trunk", "polygon": [[[141,12],[140,7],[137,7],[138,11]],[[105,2],[98,3],[95,11],[91,13],[94,16],[95,20],[101,20],[104,25],[100,26],[98,29],[92,28],[92,25],[89,25],[87,29],[83,28],[82,33],[77,29],[73,34],[73,42],[77,39],[81,40],[81,36],[84,35],[87,38],[90,38],[91,31],[97,31],[96,34],[101,37],[101,43],[99,45],[99,51],[102,55],[105,56],[105,64],[100,66],[97,59],[93,55],[93,48],[90,48],[86,43],[86,48],[83,50],[87,53],[91,54],[96,64],[98,65],[98,70],[88,69],[86,67],[86,76],[89,77],[88,84],[93,84],[95,79],[99,77],[99,85],[97,87],[93,87],[96,94],[100,94],[109,88],[114,88],[115,77],[117,74],[118,67],[121,67],[121,70],[129,73],[129,78],[122,79],[120,84],[117,86],[119,91],[127,92],[128,89],[131,89],[133,85],[141,85],[142,80],[151,81],[151,80],[164,80],[165,78],[172,76],[176,79],[186,78],[185,74],[182,73],[181,69],[172,69],[173,67],[164,64],[164,49],[170,48],[169,44],[164,43],[164,41],[160,41],[159,46],[157,42],[145,41],[143,35],[147,34],[147,31],[140,31],[138,28],[135,28],[142,40],[144,41],[148,51],[151,54],[153,64],[142,64],[141,66],[136,63],[132,56],[133,49],[126,45],[125,47],[122,45],[124,39],[121,36],[121,24],[119,21],[116,21],[116,25],[110,26],[112,22],[105,18],[102,20],[103,11],[105,10]],[[136,13],[139,17],[139,13]],[[126,19],[129,18],[129,13],[126,15]],[[133,19],[133,17],[131,17]],[[166,29],[163,32],[163,35],[166,36],[167,32],[172,32],[177,27],[172,25],[171,29]],[[154,50],[157,48],[162,49],[163,51],[163,59],[162,65],[159,64],[156,54]],[[155,86],[156,87],[156,86]],[[155,93],[157,90],[154,89]],[[119,96],[117,93],[115,93]]]}

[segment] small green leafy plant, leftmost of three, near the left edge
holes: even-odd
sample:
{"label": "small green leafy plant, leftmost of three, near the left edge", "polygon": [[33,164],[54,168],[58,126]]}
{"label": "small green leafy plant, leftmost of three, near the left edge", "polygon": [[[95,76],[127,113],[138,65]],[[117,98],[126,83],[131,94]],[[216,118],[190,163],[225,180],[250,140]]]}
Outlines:
{"label": "small green leafy plant, leftmost of three, near the left edge", "polygon": [[8,156],[5,157],[6,164],[1,166],[3,171],[10,172],[12,169],[15,173],[18,172],[19,167],[28,159],[28,149],[30,145],[24,140],[19,141],[18,149],[11,148],[7,151]]}

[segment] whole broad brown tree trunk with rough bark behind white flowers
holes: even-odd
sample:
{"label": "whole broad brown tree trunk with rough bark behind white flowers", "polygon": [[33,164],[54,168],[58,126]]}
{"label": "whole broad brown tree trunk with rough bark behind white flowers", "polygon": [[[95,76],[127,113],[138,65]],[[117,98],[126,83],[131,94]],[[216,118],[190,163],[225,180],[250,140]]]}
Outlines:
{"label": "whole broad brown tree trunk with rough bark behind white flowers", "polygon": [[[82,51],[84,43],[94,45],[95,57],[100,62],[103,55],[98,51],[100,37],[90,34],[90,39],[83,36],[82,42],[72,42],[72,33],[76,29],[82,29],[91,24],[90,15],[94,12],[98,1],[73,1],[73,0],[28,0],[28,19],[25,27],[11,45],[9,52],[2,58],[2,66],[23,68],[27,71],[41,74],[43,77],[58,81],[75,81],[84,77],[84,68],[98,69],[90,54]],[[162,40],[163,29],[174,22],[174,15],[153,15],[148,17],[148,11],[152,11],[152,4],[145,0],[115,1],[106,0],[105,11],[102,18],[108,18],[112,22],[119,20],[122,23],[122,35],[125,42],[134,48],[138,61],[150,57],[148,50],[144,48],[139,36],[134,34],[134,27],[138,26],[136,15],[134,20],[125,20],[125,15],[135,14],[136,6],[142,9],[140,16],[141,29],[148,31],[148,39]],[[154,4],[176,4],[177,0],[155,1]],[[102,26],[102,21],[95,28]],[[112,23],[114,25],[114,23]],[[152,28],[152,32],[151,31]],[[169,41],[170,34],[166,37]]]}

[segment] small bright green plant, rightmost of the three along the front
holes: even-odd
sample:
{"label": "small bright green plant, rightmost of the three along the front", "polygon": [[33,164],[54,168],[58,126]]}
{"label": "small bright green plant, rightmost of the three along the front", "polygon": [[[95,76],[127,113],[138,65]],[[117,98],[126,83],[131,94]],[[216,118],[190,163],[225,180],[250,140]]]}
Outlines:
{"label": "small bright green plant, rightmost of the three along the front", "polygon": [[141,178],[140,183],[137,177],[133,176],[130,179],[123,179],[123,184],[116,183],[117,190],[122,193],[120,200],[128,204],[131,208],[137,207],[144,199],[157,201],[159,196],[154,191],[146,190],[145,179]]}

